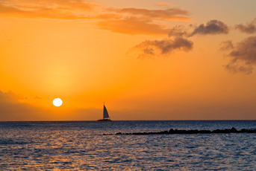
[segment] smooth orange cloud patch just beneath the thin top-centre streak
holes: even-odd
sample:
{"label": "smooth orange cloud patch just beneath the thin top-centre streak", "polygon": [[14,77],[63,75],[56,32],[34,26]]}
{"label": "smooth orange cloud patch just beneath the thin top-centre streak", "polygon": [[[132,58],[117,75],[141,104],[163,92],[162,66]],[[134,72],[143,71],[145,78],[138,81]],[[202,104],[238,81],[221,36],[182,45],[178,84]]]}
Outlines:
{"label": "smooth orange cloud patch just beneath the thin top-centre streak", "polygon": [[127,34],[167,34],[169,29],[164,25],[157,25],[150,20],[128,18],[104,20],[98,23],[99,28],[111,30],[115,33]]}

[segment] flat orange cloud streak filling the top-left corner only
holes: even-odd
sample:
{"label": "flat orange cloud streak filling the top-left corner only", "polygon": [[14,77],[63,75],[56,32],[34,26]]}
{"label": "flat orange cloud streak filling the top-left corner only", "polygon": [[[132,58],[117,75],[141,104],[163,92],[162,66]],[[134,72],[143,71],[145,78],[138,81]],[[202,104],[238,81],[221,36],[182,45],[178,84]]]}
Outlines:
{"label": "flat orange cloud streak filling the top-left corner only", "polygon": [[7,0],[0,4],[0,13],[1,16],[26,18],[87,19],[85,11],[93,10],[98,6],[80,0]]}

